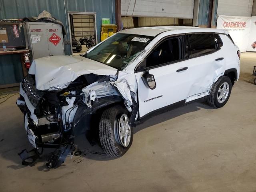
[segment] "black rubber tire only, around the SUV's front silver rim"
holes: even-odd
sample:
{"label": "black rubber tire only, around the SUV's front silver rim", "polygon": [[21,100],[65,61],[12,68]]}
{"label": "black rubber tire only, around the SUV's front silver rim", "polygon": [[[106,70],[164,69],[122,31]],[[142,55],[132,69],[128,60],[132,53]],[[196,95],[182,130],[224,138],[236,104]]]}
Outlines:
{"label": "black rubber tire only, around the SUV's front silver rim", "polygon": [[122,114],[128,115],[128,111],[122,106],[114,106],[104,110],[100,118],[99,136],[102,149],[109,157],[123,156],[132,145],[133,128],[130,129],[130,142],[127,147],[120,144],[117,138],[116,128],[118,119]]}

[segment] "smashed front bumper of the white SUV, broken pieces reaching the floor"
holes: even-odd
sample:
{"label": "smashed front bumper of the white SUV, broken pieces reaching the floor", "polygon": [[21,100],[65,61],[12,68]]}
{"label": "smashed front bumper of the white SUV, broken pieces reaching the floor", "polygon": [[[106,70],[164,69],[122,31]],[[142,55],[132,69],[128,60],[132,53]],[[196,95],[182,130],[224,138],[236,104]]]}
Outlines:
{"label": "smashed front bumper of the white SUV, broken pieces reaching the floor", "polygon": [[[56,148],[50,156],[47,166],[49,168],[60,166],[66,156],[75,150],[72,136],[62,134],[60,131],[59,126],[62,126],[62,121],[50,122],[46,117],[38,118],[34,114],[36,108],[32,105],[28,95],[22,88],[22,83],[20,84],[20,98],[17,99],[16,104],[24,113],[24,126],[28,141],[34,147],[34,149],[30,151],[22,150],[22,152],[19,153],[22,164],[30,165],[40,158],[41,153],[38,152],[39,148],[42,148],[42,151],[43,148]],[[45,132],[43,129],[48,129],[49,132]],[[53,130],[54,132],[52,132]],[[68,137],[70,138],[68,141],[63,139]]]}

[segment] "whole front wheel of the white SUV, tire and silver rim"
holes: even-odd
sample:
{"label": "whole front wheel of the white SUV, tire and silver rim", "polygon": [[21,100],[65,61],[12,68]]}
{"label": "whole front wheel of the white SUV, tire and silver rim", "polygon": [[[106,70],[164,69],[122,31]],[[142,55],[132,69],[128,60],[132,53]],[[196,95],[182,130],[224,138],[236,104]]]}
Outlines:
{"label": "whole front wheel of the white SUV, tire and silver rim", "polygon": [[132,145],[133,128],[129,124],[128,111],[122,106],[104,110],[99,124],[100,143],[110,157],[124,155]]}

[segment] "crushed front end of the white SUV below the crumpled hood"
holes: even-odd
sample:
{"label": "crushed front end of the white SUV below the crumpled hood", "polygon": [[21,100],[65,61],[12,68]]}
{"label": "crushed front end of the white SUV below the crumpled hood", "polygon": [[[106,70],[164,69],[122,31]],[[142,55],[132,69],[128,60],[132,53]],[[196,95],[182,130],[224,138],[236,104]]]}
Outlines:
{"label": "crushed front end of the white SUV below the crumpled hood", "polygon": [[[135,77],[134,77],[135,78]],[[76,149],[75,136],[98,124],[92,118],[100,109],[122,103],[131,113],[133,124],[138,111],[136,91],[125,79],[116,75],[80,75],[76,80],[57,90],[36,89],[35,75],[29,74],[20,84],[17,105],[24,113],[25,129],[33,150],[19,155],[22,164],[35,162],[39,148],[56,148],[47,166],[58,167]]]}

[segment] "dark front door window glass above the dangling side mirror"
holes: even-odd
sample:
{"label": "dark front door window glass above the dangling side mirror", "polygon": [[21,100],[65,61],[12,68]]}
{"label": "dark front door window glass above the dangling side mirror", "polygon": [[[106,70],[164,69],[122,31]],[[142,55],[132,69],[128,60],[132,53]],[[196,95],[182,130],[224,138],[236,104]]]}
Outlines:
{"label": "dark front door window glass above the dangling side mirror", "polygon": [[161,64],[181,59],[181,39],[170,38],[161,42],[147,57],[146,67],[154,67]]}

